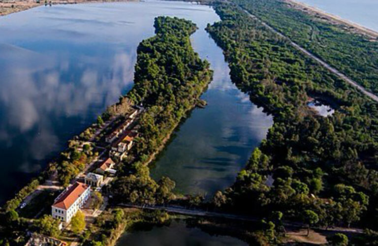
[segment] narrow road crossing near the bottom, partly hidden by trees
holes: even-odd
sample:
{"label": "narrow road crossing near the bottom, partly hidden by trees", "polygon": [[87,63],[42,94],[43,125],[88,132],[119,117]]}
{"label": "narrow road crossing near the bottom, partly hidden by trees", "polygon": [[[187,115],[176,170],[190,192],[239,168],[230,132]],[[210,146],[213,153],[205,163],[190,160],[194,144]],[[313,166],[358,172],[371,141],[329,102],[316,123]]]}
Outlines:
{"label": "narrow road crossing near the bottom, partly hidden by trees", "polygon": [[[224,213],[217,213],[217,212],[208,212],[203,210],[197,209],[187,209],[184,207],[179,206],[139,206],[139,205],[131,205],[131,204],[119,204],[123,207],[128,208],[137,208],[137,209],[149,209],[149,210],[164,210],[170,213],[181,214],[181,215],[190,215],[190,216],[204,216],[204,217],[218,217],[218,218],[228,218],[228,219],[236,219],[236,220],[244,220],[244,221],[261,221],[261,218],[248,216],[248,215],[233,215],[233,214],[224,214]],[[303,228],[306,227],[303,223],[295,223],[295,222],[285,222],[285,226],[288,227],[296,227],[296,228]],[[335,231],[335,232],[348,232],[348,233],[363,233],[362,229],[358,228],[316,228],[319,231]]]}

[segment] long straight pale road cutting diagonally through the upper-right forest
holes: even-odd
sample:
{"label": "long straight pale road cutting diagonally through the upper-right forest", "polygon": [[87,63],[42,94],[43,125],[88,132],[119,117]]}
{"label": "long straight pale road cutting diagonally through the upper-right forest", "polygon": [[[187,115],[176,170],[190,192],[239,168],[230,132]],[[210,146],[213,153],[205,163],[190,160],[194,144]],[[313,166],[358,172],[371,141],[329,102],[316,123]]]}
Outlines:
{"label": "long straight pale road cutting diagonally through the upper-right forest", "polygon": [[258,21],[259,23],[261,23],[261,25],[263,25],[264,27],[266,27],[267,29],[269,29],[270,31],[273,31],[275,32],[277,35],[279,35],[280,37],[286,39],[289,41],[289,43],[296,49],[298,49],[299,51],[301,51],[303,54],[307,55],[308,57],[314,59],[316,62],[320,63],[323,67],[325,67],[326,69],[328,69],[329,71],[331,71],[332,73],[336,74],[337,76],[339,76],[340,78],[342,78],[344,81],[346,81],[348,84],[350,84],[351,86],[355,87],[356,89],[358,89],[360,92],[364,93],[365,95],[367,95],[368,97],[370,97],[371,99],[373,99],[374,101],[378,102],[378,96],[371,93],[371,92],[368,92],[365,88],[363,88],[362,86],[358,85],[355,81],[351,80],[350,78],[348,78],[345,74],[343,74],[342,72],[340,72],[339,70],[337,70],[336,68],[332,67],[330,64],[328,64],[327,62],[324,62],[322,61],[321,59],[319,59],[318,57],[316,57],[315,55],[313,55],[312,53],[310,53],[308,50],[302,48],[301,46],[299,46],[297,43],[293,42],[290,38],[288,38],[287,36],[285,36],[284,34],[282,34],[281,32],[275,30],[274,28],[272,28],[271,26],[269,26],[268,24],[266,24],[265,22],[261,21],[260,19],[258,19],[256,16],[252,15],[250,12],[248,12],[248,10],[244,9],[242,7],[242,9],[254,20]]}

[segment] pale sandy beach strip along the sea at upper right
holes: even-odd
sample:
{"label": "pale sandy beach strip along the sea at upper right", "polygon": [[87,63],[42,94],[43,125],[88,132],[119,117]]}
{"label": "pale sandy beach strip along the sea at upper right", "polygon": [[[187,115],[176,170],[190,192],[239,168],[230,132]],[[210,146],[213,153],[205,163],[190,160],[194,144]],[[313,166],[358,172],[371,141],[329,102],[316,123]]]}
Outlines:
{"label": "pale sandy beach strip along the sea at upper right", "polygon": [[369,37],[378,39],[378,31],[374,31],[374,30],[369,29],[367,27],[364,27],[360,24],[357,24],[355,22],[344,19],[340,16],[327,13],[325,10],[322,10],[322,9],[315,7],[315,6],[308,5],[308,4],[300,2],[298,0],[284,0],[284,1],[286,3],[288,3],[289,5],[291,5],[291,7],[297,8],[297,9],[303,11],[303,12],[306,12],[309,15],[312,15],[312,16],[315,16],[315,17],[319,17],[319,15],[320,15],[321,17],[324,17],[324,19],[326,21],[330,22],[333,25],[335,25],[335,24],[336,25],[337,24],[344,25],[344,26],[347,26],[349,28],[355,29],[355,31],[353,31],[353,30],[348,30],[348,31],[357,32],[359,34],[364,34],[364,35],[367,35]]}

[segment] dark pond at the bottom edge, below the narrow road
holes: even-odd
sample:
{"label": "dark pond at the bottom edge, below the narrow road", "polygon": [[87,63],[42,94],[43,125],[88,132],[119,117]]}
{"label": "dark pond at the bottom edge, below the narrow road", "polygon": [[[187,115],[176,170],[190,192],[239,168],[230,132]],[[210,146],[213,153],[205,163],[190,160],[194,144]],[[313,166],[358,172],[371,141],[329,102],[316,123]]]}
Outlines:
{"label": "dark pond at the bottom edge, below the narrow road", "polygon": [[169,226],[154,227],[150,231],[125,233],[117,246],[247,246],[245,242],[215,236],[198,228],[189,228],[185,221],[172,221]]}

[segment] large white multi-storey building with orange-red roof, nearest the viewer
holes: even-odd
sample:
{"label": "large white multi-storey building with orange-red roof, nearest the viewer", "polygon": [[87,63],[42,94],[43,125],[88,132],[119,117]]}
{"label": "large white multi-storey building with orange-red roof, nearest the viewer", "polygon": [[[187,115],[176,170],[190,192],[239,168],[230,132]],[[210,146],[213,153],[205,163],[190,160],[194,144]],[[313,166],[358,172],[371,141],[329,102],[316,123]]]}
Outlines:
{"label": "large white multi-storey building with orange-red roof, nearest the viewer", "polygon": [[53,218],[69,222],[73,215],[84,205],[91,194],[91,186],[76,182],[68,186],[51,206]]}

